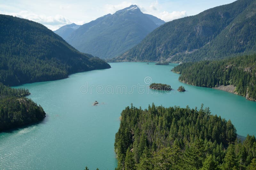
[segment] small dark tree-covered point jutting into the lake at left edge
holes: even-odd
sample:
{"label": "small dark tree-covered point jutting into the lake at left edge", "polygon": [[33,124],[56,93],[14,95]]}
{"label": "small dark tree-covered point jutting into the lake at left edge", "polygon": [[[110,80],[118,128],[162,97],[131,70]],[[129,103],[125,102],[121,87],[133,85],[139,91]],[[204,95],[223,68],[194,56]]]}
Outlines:
{"label": "small dark tree-covered point jutting into the lake at left edge", "polygon": [[12,89],[0,83],[0,132],[44,119],[43,108],[31,99],[25,89]]}

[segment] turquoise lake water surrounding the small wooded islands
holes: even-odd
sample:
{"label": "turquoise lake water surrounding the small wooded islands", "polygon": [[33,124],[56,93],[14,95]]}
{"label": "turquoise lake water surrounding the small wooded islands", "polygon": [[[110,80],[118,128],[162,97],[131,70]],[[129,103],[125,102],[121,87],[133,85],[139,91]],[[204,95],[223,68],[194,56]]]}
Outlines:
{"label": "turquoise lake water surrounding the small wooded islands", "polygon": [[[47,117],[39,124],[0,133],[0,169],[114,169],[120,113],[131,103],[142,108],[152,102],[190,108],[204,103],[212,114],[231,119],[239,135],[256,134],[256,102],[181,83],[179,74],[170,71],[175,64],[110,65],[110,69],[72,74],[63,80],[20,86],[29,89],[29,97],[44,108]],[[174,90],[161,94],[148,89],[150,82],[170,84]],[[176,91],[180,85],[186,92]],[[92,106],[95,100],[99,105]]]}

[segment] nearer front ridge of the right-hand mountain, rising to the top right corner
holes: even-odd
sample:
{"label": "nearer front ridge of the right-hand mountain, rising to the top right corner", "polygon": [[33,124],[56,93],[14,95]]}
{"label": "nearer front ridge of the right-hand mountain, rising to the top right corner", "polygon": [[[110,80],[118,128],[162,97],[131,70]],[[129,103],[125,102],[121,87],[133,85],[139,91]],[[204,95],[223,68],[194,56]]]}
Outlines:
{"label": "nearer front ridge of the right-hand mountain, rising to the top right corner", "polygon": [[172,60],[202,60],[256,51],[256,1],[241,12],[215,39],[195,53]]}

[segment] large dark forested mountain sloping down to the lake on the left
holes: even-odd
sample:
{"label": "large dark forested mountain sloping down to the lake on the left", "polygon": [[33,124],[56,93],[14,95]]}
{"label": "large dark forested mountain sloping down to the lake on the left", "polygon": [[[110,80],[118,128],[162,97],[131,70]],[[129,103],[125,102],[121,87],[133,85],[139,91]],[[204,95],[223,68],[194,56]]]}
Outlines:
{"label": "large dark forested mountain sloping down to the lake on the left", "polygon": [[0,82],[19,85],[109,68],[103,60],[78,52],[44,25],[0,15]]}

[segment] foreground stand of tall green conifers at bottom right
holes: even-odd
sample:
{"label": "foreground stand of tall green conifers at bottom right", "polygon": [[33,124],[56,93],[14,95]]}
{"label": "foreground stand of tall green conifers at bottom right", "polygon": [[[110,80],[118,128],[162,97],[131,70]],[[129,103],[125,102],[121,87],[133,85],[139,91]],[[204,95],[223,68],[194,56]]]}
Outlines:
{"label": "foreground stand of tall green conifers at bottom right", "polygon": [[236,128],[209,108],[131,107],[121,114],[115,138],[121,169],[253,169],[256,142],[236,138]]}

